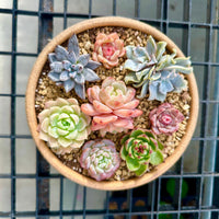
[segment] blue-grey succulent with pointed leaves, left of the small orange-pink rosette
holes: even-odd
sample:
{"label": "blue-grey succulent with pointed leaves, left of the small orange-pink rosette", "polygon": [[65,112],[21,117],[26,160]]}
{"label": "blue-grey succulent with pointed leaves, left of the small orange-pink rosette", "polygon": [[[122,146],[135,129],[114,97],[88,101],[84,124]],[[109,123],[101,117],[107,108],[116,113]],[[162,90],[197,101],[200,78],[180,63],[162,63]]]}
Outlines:
{"label": "blue-grey succulent with pointed leaves, left of the small orange-pink rosette", "polygon": [[68,93],[74,89],[76,93],[85,99],[85,81],[97,81],[100,78],[93,71],[101,64],[90,60],[90,55],[80,55],[76,34],[68,42],[68,50],[57,46],[55,53],[48,55],[50,72],[48,78],[57,85],[64,85]]}

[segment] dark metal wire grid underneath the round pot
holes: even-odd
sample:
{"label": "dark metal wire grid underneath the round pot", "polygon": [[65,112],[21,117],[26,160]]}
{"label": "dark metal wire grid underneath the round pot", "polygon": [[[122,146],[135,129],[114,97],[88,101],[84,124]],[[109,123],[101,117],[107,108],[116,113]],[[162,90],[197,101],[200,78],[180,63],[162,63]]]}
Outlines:
{"label": "dark metal wire grid underneath the round pot", "polygon": [[[215,107],[215,115],[218,115],[219,108],[219,94],[218,89],[215,89],[216,93],[210,96],[211,83],[212,83],[212,68],[216,69],[216,74],[219,73],[219,49],[216,55],[218,58],[212,57],[212,35],[214,32],[217,32],[219,38],[219,25],[218,21],[214,21],[214,10],[218,7],[218,2],[215,0],[206,0],[207,11],[205,22],[193,22],[192,21],[192,9],[193,2],[195,0],[184,0],[183,9],[183,21],[174,21],[170,19],[170,3],[171,0],[157,0],[153,1],[153,5],[157,7],[157,18],[141,18],[141,4],[142,0],[135,0],[135,19],[147,22],[151,25],[154,25],[160,28],[165,34],[169,34],[170,28],[180,28],[183,32],[183,51],[186,56],[191,55],[191,43],[192,43],[192,30],[200,28],[206,31],[205,37],[205,60],[193,61],[194,67],[204,67],[205,78],[204,78],[204,93],[200,99],[201,115],[199,115],[200,129],[199,136],[193,137],[193,142],[198,142],[199,145],[199,162],[197,173],[185,173],[184,172],[184,155],[177,164],[175,170],[169,171],[164,175],[160,176],[157,181],[145,185],[140,188],[130,189],[128,192],[106,192],[104,209],[88,209],[87,208],[87,196],[89,195],[88,189],[83,187],[82,196],[82,209],[76,209],[76,203],[72,210],[65,210],[64,208],[64,176],[60,174],[49,173],[49,165],[43,159],[43,157],[37,152],[37,170],[35,174],[18,174],[15,172],[15,140],[16,139],[31,139],[30,135],[18,135],[15,130],[15,118],[16,118],[16,100],[18,97],[24,97],[24,94],[16,93],[16,57],[37,57],[38,53],[47,43],[48,38],[53,37],[53,20],[55,18],[64,19],[64,28],[68,25],[69,19],[91,19],[99,16],[97,14],[92,13],[93,5],[95,0],[89,0],[89,10],[88,13],[70,13],[68,11],[68,0],[64,0],[64,12],[54,12],[53,5],[54,0],[39,0],[38,11],[27,11],[18,9],[18,0],[13,0],[12,9],[0,9],[0,14],[11,14],[12,15],[12,48],[11,51],[0,50],[0,56],[10,56],[11,57],[11,93],[0,93],[0,97],[4,96],[11,100],[11,131],[10,135],[0,134],[0,138],[10,139],[11,146],[11,173],[10,174],[0,174],[0,180],[9,178],[11,180],[11,211],[0,211],[0,218],[19,218],[19,217],[35,217],[35,218],[54,218],[54,217],[72,217],[72,218],[88,218],[88,217],[101,217],[104,219],[113,219],[116,217],[122,218],[143,218],[143,216],[150,219],[160,219],[161,217],[181,219],[181,218],[191,218],[191,219],[215,219],[219,218],[219,164],[215,163],[214,171],[205,170],[206,154],[208,143],[214,142],[216,150],[211,159],[217,161],[219,159],[219,151],[217,150],[219,146],[219,122],[216,117],[214,125],[214,132],[216,135],[208,134],[208,124],[210,119],[210,106],[211,104]],[[112,0],[113,9],[112,15],[117,14],[118,2],[119,0]],[[18,15],[27,15],[38,18],[38,49],[37,54],[35,53],[22,53],[16,51],[16,32],[18,32]],[[219,77],[217,77],[219,80]],[[217,84],[217,82],[216,82]],[[218,81],[219,84],[219,81]],[[36,180],[36,208],[35,211],[18,211],[16,210],[16,180],[20,178],[32,178]],[[59,199],[59,210],[50,210],[49,208],[49,181],[50,180],[60,180],[60,199]],[[204,205],[206,201],[206,178],[210,178],[210,187],[208,191],[211,192],[211,198],[209,205]],[[164,203],[164,184],[169,180],[174,181],[174,196],[168,204]],[[184,181],[195,182],[193,205],[185,205],[183,199],[183,186]],[[140,192],[139,192],[140,191]],[[77,193],[78,194],[78,193]],[[77,195],[76,195],[77,196]],[[123,197],[127,204],[124,208],[117,208],[112,210],[111,203],[112,198],[119,199]],[[117,198],[119,197],[119,198]],[[145,204],[141,201],[141,207],[136,206],[136,200],[139,197],[145,198]],[[123,199],[123,200],[124,200]],[[77,200],[74,200],[77,201]],[[78,216],[78,217],[77,217]]]}

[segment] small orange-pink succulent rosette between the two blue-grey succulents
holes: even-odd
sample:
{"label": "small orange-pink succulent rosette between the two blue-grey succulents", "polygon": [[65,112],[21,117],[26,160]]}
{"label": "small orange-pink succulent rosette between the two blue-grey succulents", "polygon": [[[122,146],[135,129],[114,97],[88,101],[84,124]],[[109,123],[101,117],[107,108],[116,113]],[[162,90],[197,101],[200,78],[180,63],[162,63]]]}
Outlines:
{"label": "small orange-pink succulent rosette between the two blue-grey succulents", "polygon": [[97,34],[93,51],[94,61],[100,61],[105,68],[111,69],[118,65],[118,57],[123,57],[125,53],[124,42],[117,33]]}

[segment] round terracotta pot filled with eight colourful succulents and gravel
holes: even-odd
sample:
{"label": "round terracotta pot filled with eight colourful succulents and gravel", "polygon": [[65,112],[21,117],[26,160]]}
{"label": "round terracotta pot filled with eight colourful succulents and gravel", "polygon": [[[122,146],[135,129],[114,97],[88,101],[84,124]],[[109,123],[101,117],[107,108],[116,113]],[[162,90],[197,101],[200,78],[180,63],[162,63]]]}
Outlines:
{"label": "round terracotta pot filled with eight colourful succulents and gravel", "polygon": [[146,184],[185,151],[198,114],[189,58],[154,27],[125,18],[78,23],[39,54],[26,115],[44,158],[97,189]]}

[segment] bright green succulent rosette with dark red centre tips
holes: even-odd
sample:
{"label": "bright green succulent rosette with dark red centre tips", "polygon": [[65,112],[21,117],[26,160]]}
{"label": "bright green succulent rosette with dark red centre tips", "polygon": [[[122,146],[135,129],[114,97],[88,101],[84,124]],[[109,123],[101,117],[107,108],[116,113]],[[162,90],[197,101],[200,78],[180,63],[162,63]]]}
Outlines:
{"label": "bright green succulent rosette with dark red centre tips", "polygon": [[120,143],[120,158],[126,161],[128,170],[138,176],[148,170],[149,163],[158,165],[163,162],[163,146],[150,130],[132,130]]}

